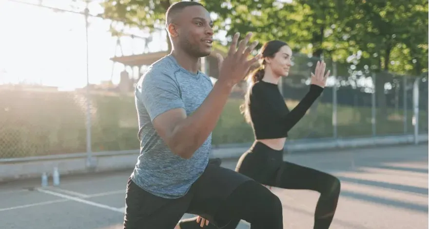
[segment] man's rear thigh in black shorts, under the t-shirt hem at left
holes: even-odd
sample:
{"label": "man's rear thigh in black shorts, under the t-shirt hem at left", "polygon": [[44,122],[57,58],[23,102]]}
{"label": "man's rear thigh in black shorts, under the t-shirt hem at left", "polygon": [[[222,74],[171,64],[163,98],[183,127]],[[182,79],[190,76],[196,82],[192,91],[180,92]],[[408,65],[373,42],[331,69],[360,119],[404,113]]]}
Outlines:
{"label": "man's rear thigh in black shorts, under the t-shirt hem at left", "polygon": [[190,201],[188,194],[177,199],[155,196],[129,179],[123,229],[174,229]]}

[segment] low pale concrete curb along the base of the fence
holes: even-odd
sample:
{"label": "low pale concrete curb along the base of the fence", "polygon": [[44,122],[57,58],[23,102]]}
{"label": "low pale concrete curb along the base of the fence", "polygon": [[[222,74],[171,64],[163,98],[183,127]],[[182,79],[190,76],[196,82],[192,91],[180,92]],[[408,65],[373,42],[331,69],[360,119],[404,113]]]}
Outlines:
{"label": "low pale concrete curb along the base of the fence", "polygon": [[[428,142],[429,135],[420,135],[419,142]],[[326,151],[346,148],[362,148],[399,144],[413,144],[413,135],[374,137],[349,140],[324,140],[324,141],[289,141],[285,149],[288,153],[305,153],[312,151]],[[251,144],[238,147],[220,147],[213,149],[213,156],[221,159],[237,159],[249,149]],[[138,151],[108,152],[106,154],[94,154],[93,166],[89,167],[84,155],[70,156],[68,158],[55,158],[54,156],[39,160],[20,160],[0,163],[0,182],[19,180],[25,178],[38,178],[42,173],[47,173],[52,181],[54,167],[59,168],[63,175],[98,173],[116,170],[133,170],[136,165]]]}

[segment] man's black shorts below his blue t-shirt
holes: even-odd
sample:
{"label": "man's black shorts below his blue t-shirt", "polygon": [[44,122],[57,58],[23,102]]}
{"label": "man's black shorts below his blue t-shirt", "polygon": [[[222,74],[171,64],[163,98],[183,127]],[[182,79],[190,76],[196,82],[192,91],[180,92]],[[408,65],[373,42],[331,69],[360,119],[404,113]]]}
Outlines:
{"label": "man's black shorts below his blue t-shirt", "polygon": [[184,213],[200,215],[219,228],[225,226],[228,222],[216,217],[219,207],[239,185],[252,179],[220,164],[219,159],[211,159],[188,193],[175,199],[150,194],[129,179],[124,229],[174,229]]}

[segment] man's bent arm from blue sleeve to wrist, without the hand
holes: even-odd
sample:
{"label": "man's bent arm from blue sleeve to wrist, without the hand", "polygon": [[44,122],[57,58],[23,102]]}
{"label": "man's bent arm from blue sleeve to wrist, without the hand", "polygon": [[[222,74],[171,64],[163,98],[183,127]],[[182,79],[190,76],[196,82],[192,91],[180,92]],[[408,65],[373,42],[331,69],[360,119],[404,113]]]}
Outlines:
{"label": "man's bent arm from blue sleeve to wrist, without the hand", "polygon": [[144,81],[138,99],[148,110],[157,134],[174,154],[191,158],[214,130],[232,86],[217,81],[201,106],[187,117],[173,79],[160,75]]}

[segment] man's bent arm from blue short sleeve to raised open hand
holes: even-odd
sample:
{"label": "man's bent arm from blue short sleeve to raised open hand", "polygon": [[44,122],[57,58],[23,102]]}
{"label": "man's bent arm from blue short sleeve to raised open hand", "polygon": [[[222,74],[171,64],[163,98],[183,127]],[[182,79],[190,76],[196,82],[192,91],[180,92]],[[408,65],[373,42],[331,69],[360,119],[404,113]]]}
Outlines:
{"label": "man's bent arm from blue short sleeve to raised open hand", "polygon": [[[175,85],[172,83],[173,80],[166,84],[167,86],[170,85],[170,87],[166,87],[167,89],[165,90],[149,90],[149,92],[145,92],[146,96],[143,96],[143,100],[146,100],[144,103],[147,110],[148,107],[151,110],[151,106],[148,106],[148,104],[153,104],[153,107],[157,107],[157,105],[154,105],[155,103],[161,104],[161,109],[156,109],[156,112],[150,112],[152,113],[150,114],[151,120],[158,135],[175,154],[184,159],[189,159],[193,156],[194,152],[206,141],[215,128],[233,86],[243,80],[250,67],[261,57],[260,53],[254,58],[248,59],[248,56],[257,45],[257,42],[254,42],[246,48],[251,35],[252,33],[246,35],[236,51],[237,39],[239,38],[239,34],[236,33],[233,36],[225,61],[220,54],[217,55],[218,65],[221,66],[218,80],[212,91],[192,116],[187,117],[183,104],[181,105],[180,103],[179,88],[176,86],[175,90],[175,86],[172,86]],[[160,88],[157,84],[158,81],[154,82],[152,88]],[[164,96],[167,99],[161,99],[161,101],[148,99],[159,97],[160,92],[163,91],[167,92],[167,96]],[[150,103],[149,100],[152,100],[153,103]],[[165,106],[169,100],[174,106]]]}

